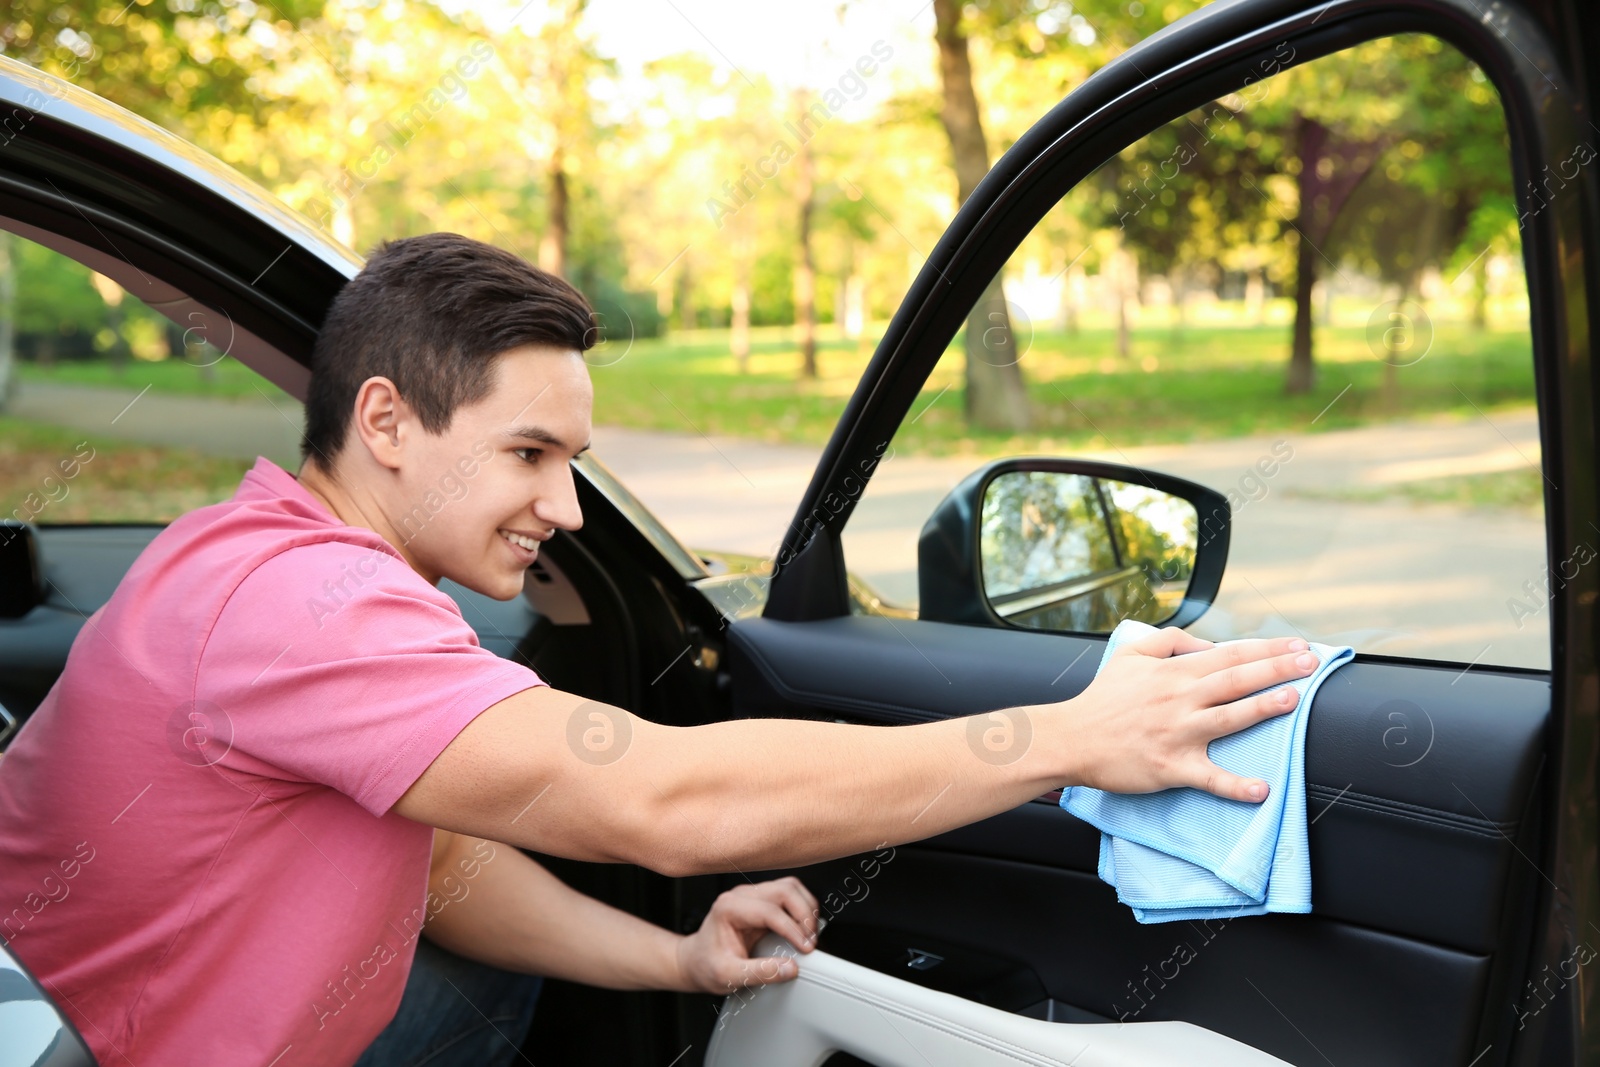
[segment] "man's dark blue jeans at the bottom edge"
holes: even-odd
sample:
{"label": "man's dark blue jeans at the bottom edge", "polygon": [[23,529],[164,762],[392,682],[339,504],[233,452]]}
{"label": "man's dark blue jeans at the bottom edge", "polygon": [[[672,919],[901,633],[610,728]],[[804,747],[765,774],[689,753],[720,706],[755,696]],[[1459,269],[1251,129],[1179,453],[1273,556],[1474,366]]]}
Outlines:
{"label": "man's dark blue jeans at the bottom edge", "polygon": [[509,1067],[542,984],[419,937],[400,1008],[355,1067]]}

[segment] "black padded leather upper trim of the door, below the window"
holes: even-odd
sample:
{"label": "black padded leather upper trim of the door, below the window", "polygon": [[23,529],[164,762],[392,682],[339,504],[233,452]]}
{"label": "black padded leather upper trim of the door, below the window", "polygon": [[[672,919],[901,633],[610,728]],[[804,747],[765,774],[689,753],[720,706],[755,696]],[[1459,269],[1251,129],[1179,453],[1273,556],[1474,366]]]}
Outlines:
{"label": "black padded leather upper trim of the door, below the window", "polygon": [[[1104,638],[856,616],[730,627],[741,715],[912,723],[1062,701]],[[1317,693],[1306,741],[1315,913],[1490,953],[1544,752],[1542,675],[1355,662]],[[946,853],[1094,873],[1098,833],[1029,803],[930,838]],[[1086,1005],[1090,1006],[1090,1005]]]}

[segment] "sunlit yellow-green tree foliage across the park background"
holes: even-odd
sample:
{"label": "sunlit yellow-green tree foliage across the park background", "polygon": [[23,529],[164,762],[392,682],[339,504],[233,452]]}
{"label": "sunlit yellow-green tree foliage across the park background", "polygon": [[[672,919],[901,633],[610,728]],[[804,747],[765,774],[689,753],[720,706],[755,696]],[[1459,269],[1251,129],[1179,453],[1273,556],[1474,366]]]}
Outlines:
{"label": "sunlit yellow-green tree foliage across the park background", "polygon": [[[1093,70],[1198,6],[965,3],[962,29],[971,40],[990,155]],[[630,333],[648,339],[666,322],[725,323],[736,291],[749,294],[752,326],[794,322],[798,182],[789,157],[774,154],[778,142],[792,141],[789,88],[754,66],[746,77],[685,53],[651,64],[643,99],[626,98],[582,0],[547,0],[514,27],[493,30],[490,13],[474,5],[430,0],[14,0],[0,10],[0,48],[179,131],[312,211],[352,246],[445,229],[538,259],[558,165],[570,192],[565,272],[608,326],[630,322]],[[824,323],[846,285],[866,293],[870,317],[891,314],[955,206],[936,94],[926,77],[909,70],[925,58],[914,58],[904,42],[896,48],[904,54],[867,82],[907,88],[877,112],[829,117],[808,141]],[[488,59],[470,75],[454,74],[472,54]],[[1290,285],[1302,206],[1296,130],[1315,120],[1334,144],[1382,149],[1322,248],[1323,274],[1341,270],[1406,291],[1429,269],[1462,275],[1461,291],[1472,286],[1482,320],[1488,264],[1504,267],[1520,250],[1504,120],[1483,72],[1421,35],[1293,62],[1278,54],[1259,82],[1107,160],[1024,245],[1040,253],[1043,277],[1072,264],[1094,274],[1133,253],[1144,278],[1168,275],[1187,288],[1237,285],[1253,270]],[[426,122],[395,139],[395,123],[416,114]],[[728,211],[707,211],[714,202]],[[106,309],[86,274],[24,256],[19,278],[24,354],[30,338],[62,326],[77,331],[82,352],[93,349],[82,339],[104,339]],[[658,307],[670,309],[666,320]],[[131,302],[125,314],[123,333],[154,350],[152,330],[163,325]],[[1269,333],[1261,334],[1262,350]],[[1283,330],[1277,333],[1282,341]],[[1093,349],[1098,339],[1083,344]],[[61,344],[62,352],[72,347]],[[842,342],[837,350],[856,362],[867,347]],[[1152,338],[1141,336],[1136,349],[1163,365],[1171,358]],[[1272,350],[1283,358],[1282,344]],[[824,347],[824,362],[832,352]],[[763,355],[760,342],[755,355]],[[1070,419],[1053,400],[1051,382],[1062,376],[1045,352],[1029,355],[1026,376],[1035,374],[1035,362],[1042,378],[1030,390],[1042,405],[1042,432],[1077,434],[1062,429]],[[758,387],[758,378],[746,384]],[[1426,373],[1403,381],[1410,389],[1421,379]],[[1128,384],[1146,389],[1142,378]],[[821,429],[795,427],[837,410],[843,387],[821,387],[832,392],[789,386],[790,408],[766,411],[752,432],[787,426],[819,437]],[[1154,403],[1154,427],[1138,432],[1160,434],[1166,400],[1146,400]],[[942,405],[952,402],[960,390],[923,424],[939,424]],[[739,422],[712,410],[717,421]],[[946,430],[930,438],[939,448],[952,440]]]}

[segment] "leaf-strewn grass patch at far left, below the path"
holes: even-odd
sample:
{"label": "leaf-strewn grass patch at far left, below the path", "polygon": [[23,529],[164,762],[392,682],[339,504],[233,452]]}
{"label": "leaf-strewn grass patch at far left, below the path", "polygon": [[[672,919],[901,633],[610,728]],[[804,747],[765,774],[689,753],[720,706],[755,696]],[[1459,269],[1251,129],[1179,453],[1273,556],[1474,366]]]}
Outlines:
{"label": "leaf-strewn grass patch at far left, below the path", "polygon": [[168,523],[230,498],[250,466],[0,418],[0,518]]}

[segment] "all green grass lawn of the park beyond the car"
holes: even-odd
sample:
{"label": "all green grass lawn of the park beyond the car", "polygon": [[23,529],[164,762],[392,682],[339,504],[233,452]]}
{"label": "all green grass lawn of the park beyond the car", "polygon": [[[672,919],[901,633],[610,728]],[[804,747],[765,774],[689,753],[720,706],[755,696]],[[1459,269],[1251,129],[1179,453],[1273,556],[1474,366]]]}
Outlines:
{"label": "all green grass lawn of the park beyond the car", "polygon": [[[821,445],[834,430],[870,342],[826,341],[821,376],[798,379],[800,357],[787,330],[757,331],[749,373],[728,354],[726,331],[698,331],[638,341],[616,358],[592,360],[595,421],[611,426],[722,434],[766,442]],[[1440,325],[1427,357],[1390,370],[1366,349],[1365,330],[1317,333],[1318,381],[1302,397],[1283,394],[1286,328],[1208,326],[1181,336],[1147,330],[1131,358],[1118,358],[1109,330],[1040,333],[1022,358],[1035,430],[1022,435],[973,430],[962,414],[962,355],[952,349],[934,368],[901,430],[896,448],[925,454],[1018,454],[1131,448],[1283,430],[1322,432],[1432,414],[1475,418],[1533,400],[1526,331]],[[616,360],[605,365],[606,360]],[[118,376],[106,363],[21,365],[24,382],[53,381],[214,397],[259,397],[267,386],[235,360],[216,365],[214,381],[182,362],[130,363]],[[1392,389],[1389,387],[1392,386]],[[64,478],[61,462],[83,434],[0,418],[0,515],[40,523],[170,522],[226,499],[250,464],[179,448],[88,438],[94,458]],[[70,466],[70,462],[69,462]],[[1461,475],[1389,488],[1338,491],[1339,499],[1533,509],[1536,472]]]}

